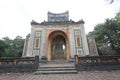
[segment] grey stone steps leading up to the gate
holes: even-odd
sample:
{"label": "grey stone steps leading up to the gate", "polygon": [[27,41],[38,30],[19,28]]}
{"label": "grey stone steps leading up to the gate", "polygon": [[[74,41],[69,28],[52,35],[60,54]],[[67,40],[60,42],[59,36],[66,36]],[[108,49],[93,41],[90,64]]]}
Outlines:
{"label": "grey stone steps leading up to the gate", "polygon": [[50,61],[40,63],[39,68],[34,74],[70,74],[77,73],[74,63],[64,61]]}

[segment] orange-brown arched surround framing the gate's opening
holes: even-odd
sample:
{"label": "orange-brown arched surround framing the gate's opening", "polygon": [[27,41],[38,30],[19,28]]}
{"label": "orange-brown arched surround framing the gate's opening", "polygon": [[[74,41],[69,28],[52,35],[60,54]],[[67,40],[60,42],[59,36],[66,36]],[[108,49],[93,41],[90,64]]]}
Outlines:
{"label": "orange-brown arched surround framing the gate's opening", "polygon": [[52,38],[56,36],[63,36],[65,38],[66,45],[66,55],[65,59],[69,60],[70,58],[70,44],[69,44],[69,32],[68,30],[47,30],[47,43],[46,43],[46,58],[48,61],[53,59],[53,51],[52,51]]}

